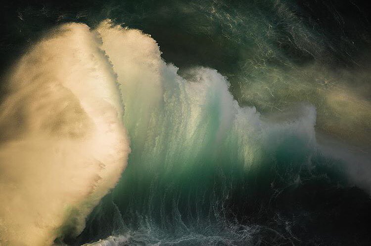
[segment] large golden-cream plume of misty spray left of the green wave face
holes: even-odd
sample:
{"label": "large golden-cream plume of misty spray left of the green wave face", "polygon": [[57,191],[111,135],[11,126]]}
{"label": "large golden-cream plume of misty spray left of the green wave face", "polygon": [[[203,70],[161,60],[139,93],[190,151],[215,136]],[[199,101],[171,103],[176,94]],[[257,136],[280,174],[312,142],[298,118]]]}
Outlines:
{"label": "large golden-cream plume of misty spray left of the green wave face", "polygon": [[130,152],[116,77],[101,41],[66,24],[9,75],[0,106],[0,245],[79,234]]}

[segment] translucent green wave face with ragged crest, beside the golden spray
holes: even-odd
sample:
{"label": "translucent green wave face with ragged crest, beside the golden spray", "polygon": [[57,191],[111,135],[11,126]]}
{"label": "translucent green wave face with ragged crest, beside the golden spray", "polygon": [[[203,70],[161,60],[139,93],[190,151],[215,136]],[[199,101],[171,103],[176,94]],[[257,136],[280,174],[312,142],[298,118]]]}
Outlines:
{"label": "translucent green wave face with ragged crest, beside the golden spray", "polygon": [[132,153],[113,193],[68,243],[113,235],[93,245],[316,244],[334,235],[325,228],[337,212],[311,204],[348,194],[350,179],[344,159],[317,144],[313,106],[263,117],[240,107],[216,70],[180,76],[150,36],[110,21],[96,32],[120,84]]}

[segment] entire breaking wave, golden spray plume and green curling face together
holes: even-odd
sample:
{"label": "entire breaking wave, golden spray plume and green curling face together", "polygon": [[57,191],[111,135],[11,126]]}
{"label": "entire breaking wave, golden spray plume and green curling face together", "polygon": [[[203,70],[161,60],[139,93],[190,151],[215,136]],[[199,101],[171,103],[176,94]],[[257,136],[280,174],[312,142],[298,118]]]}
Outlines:
{"label": "entire breaking wave, golden spray plume and green curling face together", "polygon": [[8,81],[5,245],[315,244],[337,213],[308,204],[371,187],[357,176],[367,157],[349,165],[318,144],[313,105],[241,107],[218,71],[179,71],[149,35],[110,20],[50,31]]}

